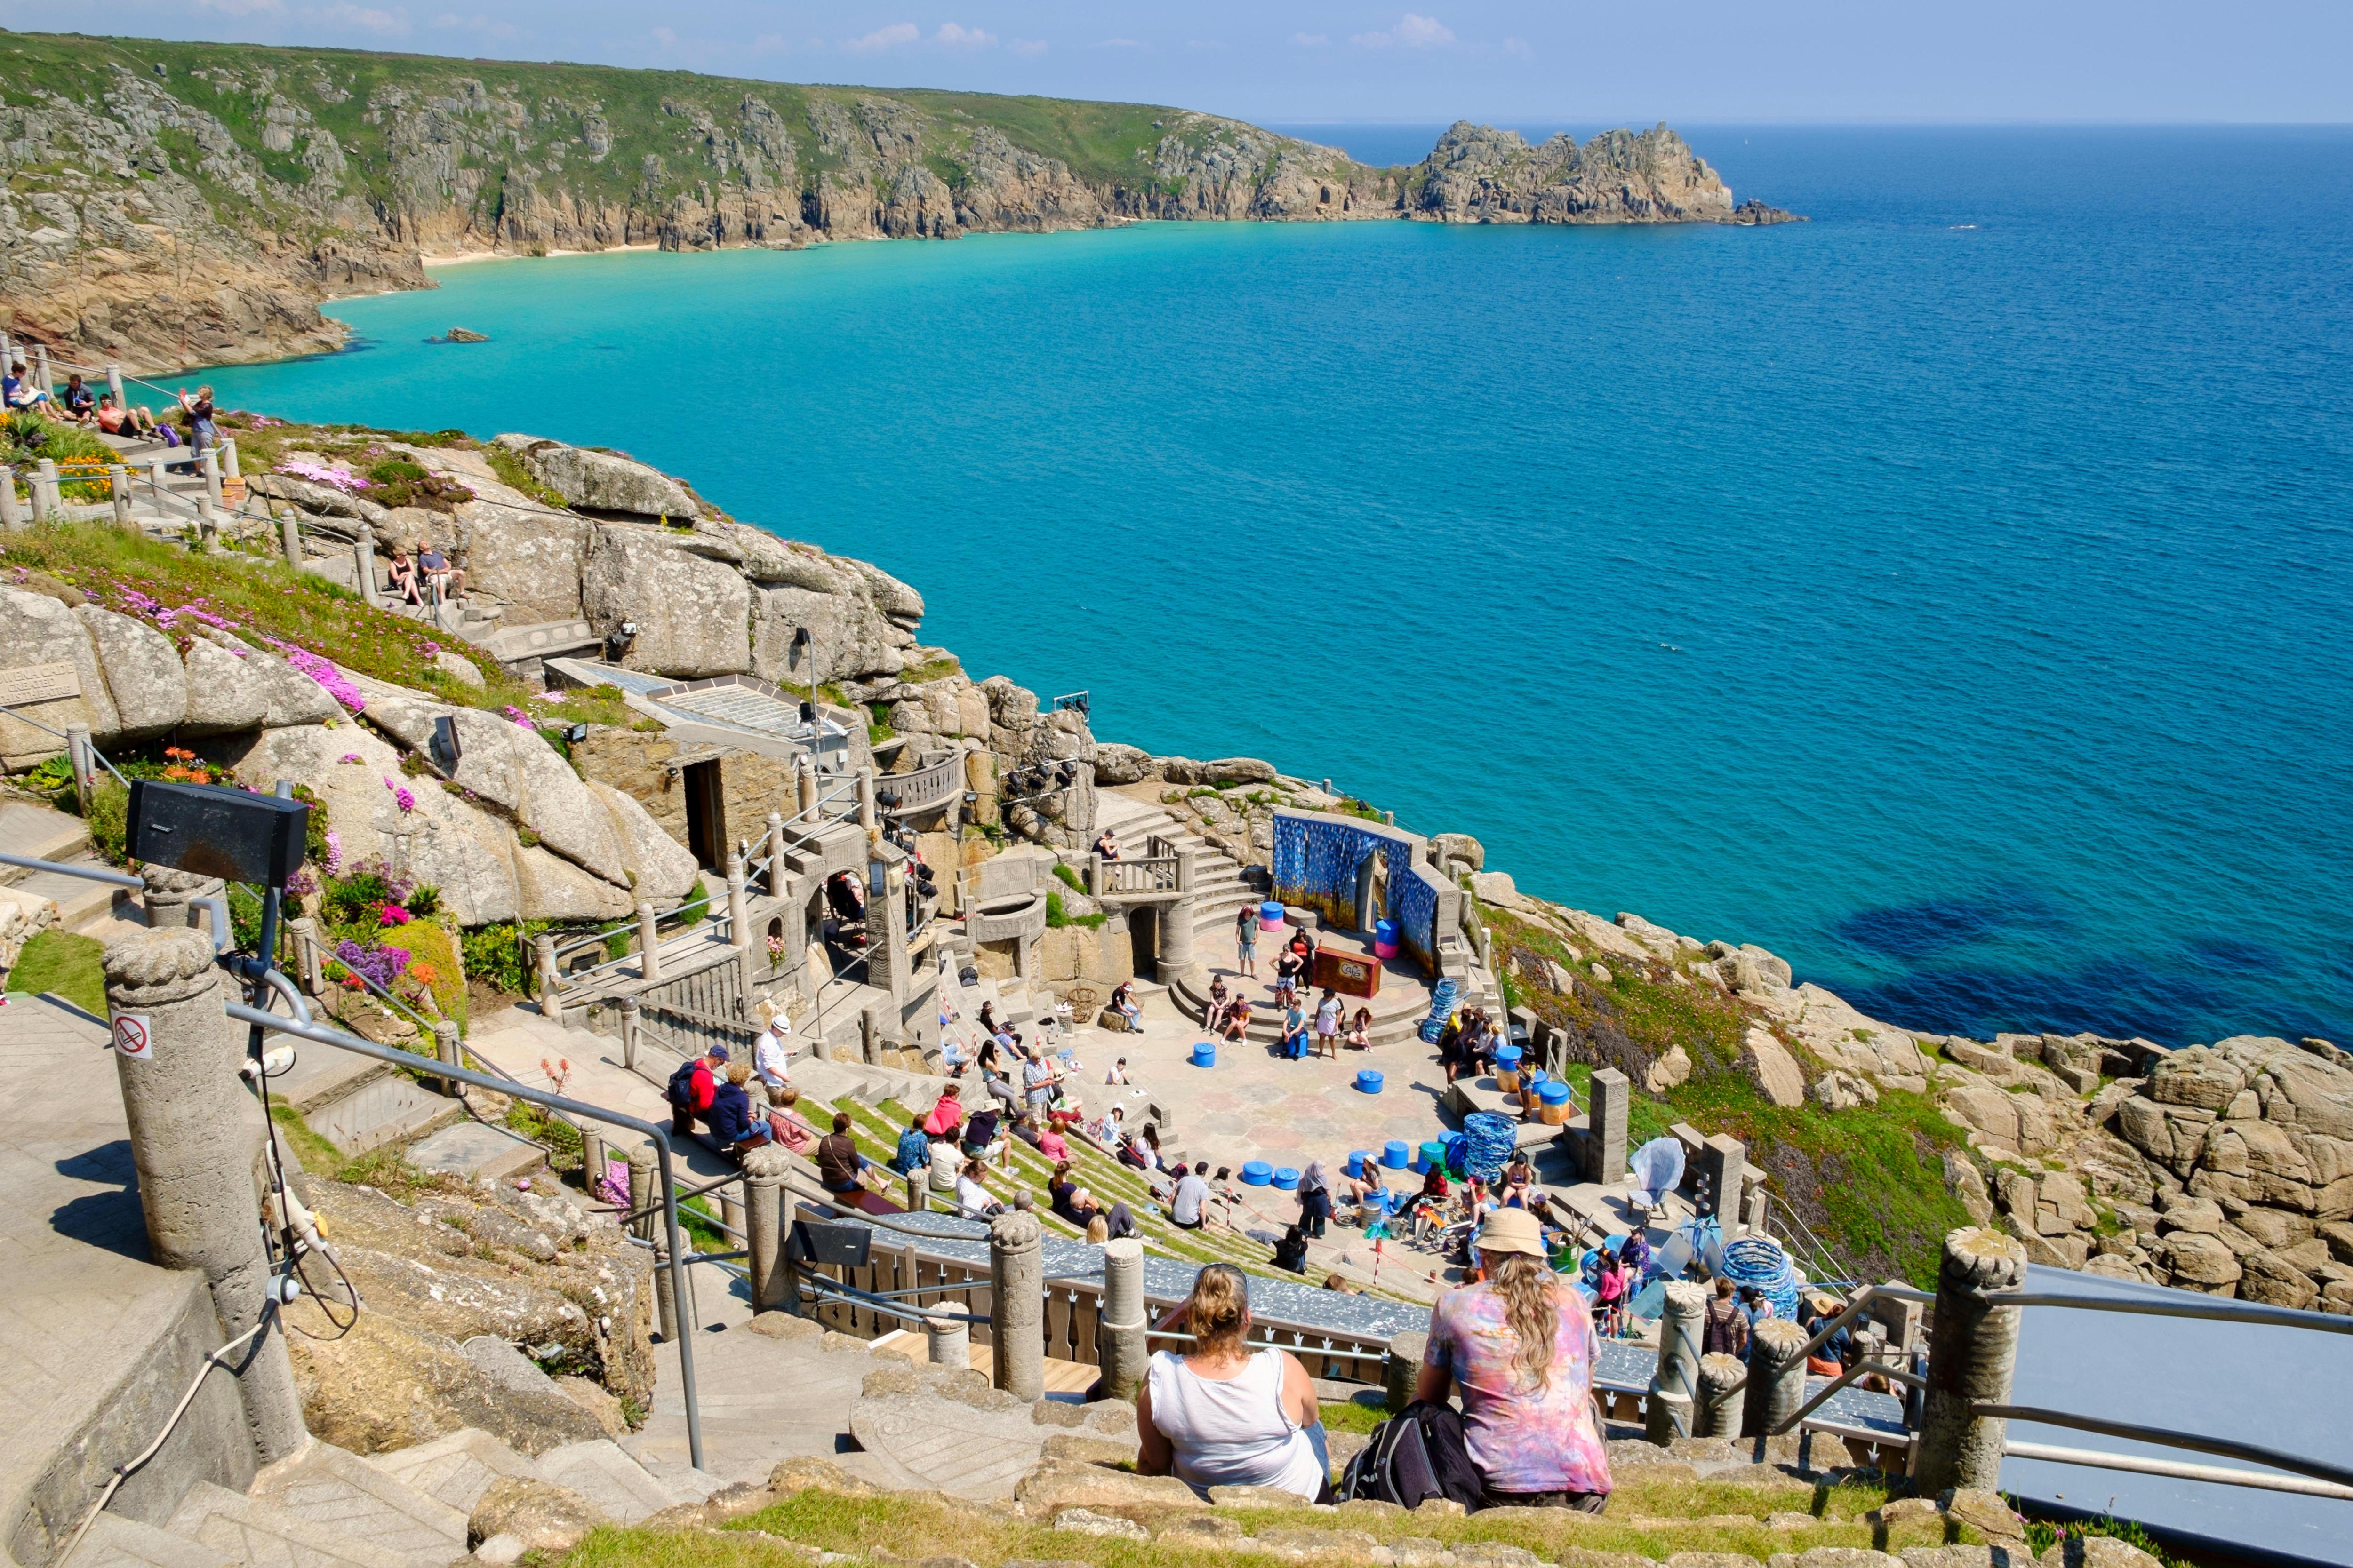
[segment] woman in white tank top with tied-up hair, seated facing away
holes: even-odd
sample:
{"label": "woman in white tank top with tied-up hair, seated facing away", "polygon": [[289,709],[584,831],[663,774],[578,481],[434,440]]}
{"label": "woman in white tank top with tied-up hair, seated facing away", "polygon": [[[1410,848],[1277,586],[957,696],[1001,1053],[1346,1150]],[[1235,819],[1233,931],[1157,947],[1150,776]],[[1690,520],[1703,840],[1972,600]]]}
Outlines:
{"label": "woman in white tank top with tied-up hair, seated facing away", "polygon": [[1136,1469],[1195,1490],[1275,1486],[1308,1500],[1332,1490],[1315,1385],[1282,1349],[1252,1354],[1245,1279],[1212,1262],[1186,1302],[1193,1354],[1155,1352],[1136,1396]]}

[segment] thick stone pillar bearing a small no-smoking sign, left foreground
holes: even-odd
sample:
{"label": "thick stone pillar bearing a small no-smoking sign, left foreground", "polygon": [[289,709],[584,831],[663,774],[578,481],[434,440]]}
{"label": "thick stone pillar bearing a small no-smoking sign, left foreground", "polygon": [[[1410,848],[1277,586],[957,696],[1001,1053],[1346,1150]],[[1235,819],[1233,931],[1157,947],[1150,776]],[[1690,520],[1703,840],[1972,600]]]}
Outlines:
{"label": "thick stone pillar bearing a small no-smoking sign, left foreground", "polygon": [[[115,1039],[139,1020],[144,1056],[115,1051],[129,1121],[148,1255],[165,1269],[202,1269],[221,1331],[235,1338],[275,1314],[254,1161],[264,1126],[226,1063],[242,1056],[224,1004],[212,943],[195,931],[134,931],[106,945],[106,1009]],[[254,1455],[271,1465],[308,1443],[301,1392],[282,1328],[264,1328],[228,1359],[245,1401]]]}

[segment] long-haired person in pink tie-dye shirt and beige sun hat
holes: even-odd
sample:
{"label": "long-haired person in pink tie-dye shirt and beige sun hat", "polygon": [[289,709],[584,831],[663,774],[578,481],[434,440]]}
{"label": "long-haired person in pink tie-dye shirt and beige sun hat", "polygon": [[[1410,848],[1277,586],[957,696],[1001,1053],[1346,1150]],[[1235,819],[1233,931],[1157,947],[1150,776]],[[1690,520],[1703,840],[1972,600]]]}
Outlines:
{"label": "long-haired person in pink tie-dye shirt and beige sun hat", "polygon": [[1478,1251],[1487,1284],[1431,1307],[1414,1396],[1440,1401],[1461,1385],[1485,1507],[1595,1514],[1609,1500],[1609,1450],[1593,1413],[1593,1312],[1546,1265],[1544,1232],[1525,1208],[1489,1213]]}

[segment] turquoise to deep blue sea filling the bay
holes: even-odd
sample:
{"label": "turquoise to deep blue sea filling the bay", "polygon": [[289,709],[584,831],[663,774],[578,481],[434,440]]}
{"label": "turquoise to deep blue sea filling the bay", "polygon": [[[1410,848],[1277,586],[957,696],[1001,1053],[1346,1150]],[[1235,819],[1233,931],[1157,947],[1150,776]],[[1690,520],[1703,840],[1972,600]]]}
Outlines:
{"label": "turquoise to deep blue sea filling the bay", "polygon": [[2353,1034],[2353,134],[1689,136],[1814,221],[475,263],[214,381],[628,449],[1901,1023]]}

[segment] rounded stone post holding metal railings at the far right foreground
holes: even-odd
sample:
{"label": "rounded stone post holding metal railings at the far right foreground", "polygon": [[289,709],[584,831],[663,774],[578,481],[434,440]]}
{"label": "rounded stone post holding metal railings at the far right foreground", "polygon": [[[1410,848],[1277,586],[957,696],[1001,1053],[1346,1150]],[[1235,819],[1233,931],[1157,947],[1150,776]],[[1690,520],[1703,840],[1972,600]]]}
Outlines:
{"label": "rounded stone post holding metal railings at the far right foreground", "polygon": [[1937,1338],[1929,1342],[1927,1401],[1913,1462],[1918,1495],[1948,1486],[1995,1488],[2009,1422],[1972,1415],[1972,1403],[2009,1403],[2019,1359],[2019,1309],[1988,1307],[1979,1291],[2017,1291],[2026,1279],[2026,1244],[1998,1229],[1944,1237],[1937,1269]]}

